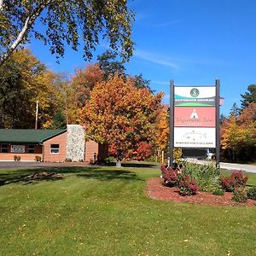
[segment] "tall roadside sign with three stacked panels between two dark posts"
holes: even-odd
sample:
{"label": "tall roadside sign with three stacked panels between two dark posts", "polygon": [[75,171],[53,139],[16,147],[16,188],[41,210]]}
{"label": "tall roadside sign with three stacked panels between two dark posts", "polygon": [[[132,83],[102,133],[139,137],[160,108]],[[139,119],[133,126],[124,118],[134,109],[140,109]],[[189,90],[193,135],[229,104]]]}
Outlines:
{"label": "tall roadside sign with three stacked panels between two dark posts", "polygon": [[170,83],[170,165],[174,148],[216,148],[219,166],[219,80],[208,86]]}

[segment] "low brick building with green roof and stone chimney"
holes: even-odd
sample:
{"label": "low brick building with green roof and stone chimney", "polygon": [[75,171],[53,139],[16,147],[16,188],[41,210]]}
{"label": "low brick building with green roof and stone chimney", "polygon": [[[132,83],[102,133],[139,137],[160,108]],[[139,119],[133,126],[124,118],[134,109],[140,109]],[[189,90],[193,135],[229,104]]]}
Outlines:
{"label": "low brick building with green roof and stone chimney", "polygon": [[108,148],[85,139],[81,125],[65,130],[0,129],[0,160],[44,162],[94,161],[108,157]]}

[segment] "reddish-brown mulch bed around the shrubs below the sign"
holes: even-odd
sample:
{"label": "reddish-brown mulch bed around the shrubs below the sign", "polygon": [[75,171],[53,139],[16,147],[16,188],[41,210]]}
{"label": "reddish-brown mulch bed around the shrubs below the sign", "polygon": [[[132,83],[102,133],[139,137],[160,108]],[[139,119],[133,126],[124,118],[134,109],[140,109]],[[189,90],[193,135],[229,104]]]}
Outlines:
{"label": "reddish-brown mulch bed around the shrubs below the sign", "polygon": [[232,201],[232,193],[225,192],[224,195],[212,195],[210,192],[198,192],[197,195],[181,196],[178,188],[165,187],[162,177],[152,177],[148,179],[147,194],[153,199],[163,201],[188,202],[192,204],[208,205],[208,206],[241,206],[255,207],[256,201],[248,199],[246,203],[238,203]]}

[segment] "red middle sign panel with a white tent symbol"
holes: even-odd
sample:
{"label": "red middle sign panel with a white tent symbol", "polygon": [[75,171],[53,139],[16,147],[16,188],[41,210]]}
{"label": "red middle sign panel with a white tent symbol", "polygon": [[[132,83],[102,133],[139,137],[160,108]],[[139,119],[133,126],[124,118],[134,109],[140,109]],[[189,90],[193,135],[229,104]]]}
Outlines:
{"label": "red middle sign panel with a white tent symbol", "polygon": [[174,126],[176,127],[215,127],[214,107],[175,107]]}

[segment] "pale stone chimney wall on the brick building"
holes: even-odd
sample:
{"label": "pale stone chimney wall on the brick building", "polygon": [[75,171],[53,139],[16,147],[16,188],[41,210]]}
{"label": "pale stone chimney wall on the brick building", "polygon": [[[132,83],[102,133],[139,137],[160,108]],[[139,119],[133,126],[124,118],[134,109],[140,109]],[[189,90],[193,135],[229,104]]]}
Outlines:
{"label": "pale stone chimney wall on the brick building", "polygon": [[84,128],[81,125],[67,125],[67,159],[84,161]]}

